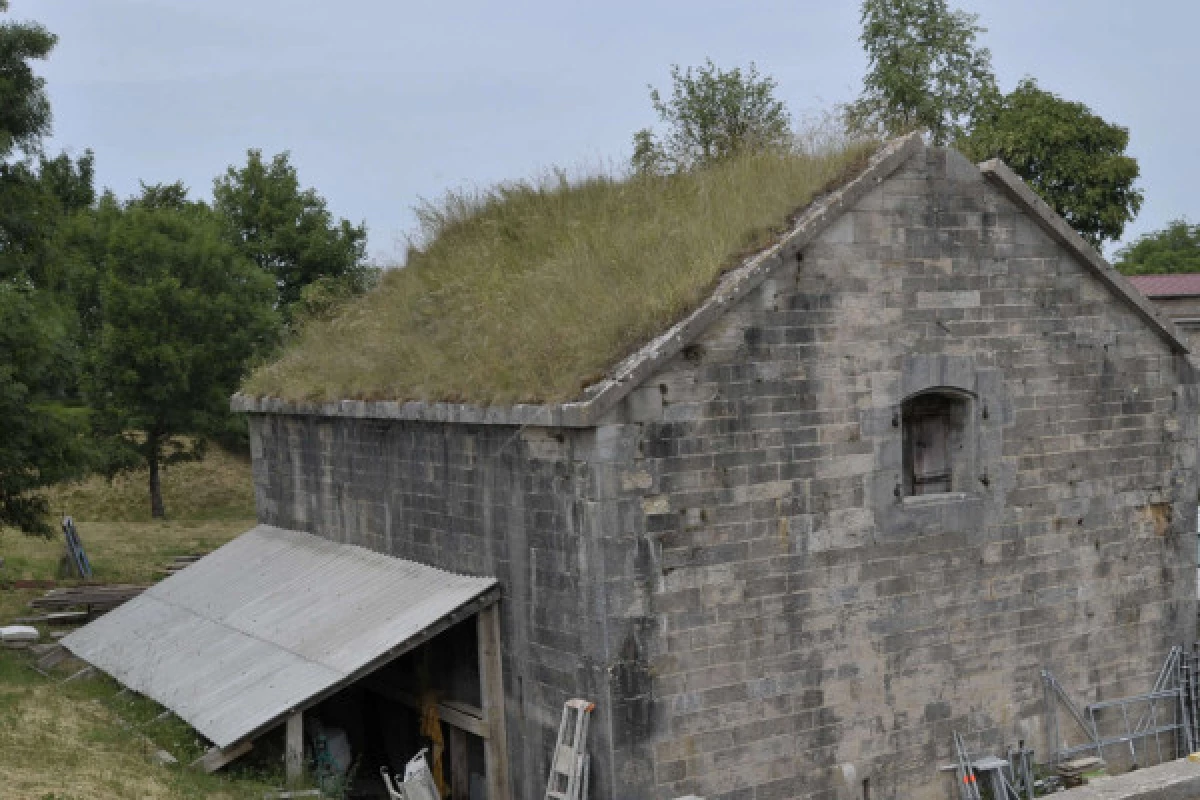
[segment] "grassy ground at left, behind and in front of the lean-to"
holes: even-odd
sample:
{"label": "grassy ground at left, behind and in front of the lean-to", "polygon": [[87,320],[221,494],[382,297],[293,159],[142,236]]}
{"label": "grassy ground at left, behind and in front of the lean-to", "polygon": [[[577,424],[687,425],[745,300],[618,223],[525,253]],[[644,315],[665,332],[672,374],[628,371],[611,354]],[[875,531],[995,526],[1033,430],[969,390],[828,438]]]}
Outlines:
{"label": "grassy ground at left, behind and in front of the lean-to", "polygon": [[[145,481],[144,474],[114,483],[91,479],[49,493],[55,515],[76,518],[97,581],[156,581],[172,557],[211,551],[254,524],[244,458],[214,450],[204,462],[167,470],[167,521],[150,519]],[[0,531],[0,583],[55,578],[61,553],[60,537]],[[29,614],[29,601],[40,594],[0,589],[0,624]],[[108,678],[61,684],[78,662],[49,678],[31,664],[28,652],[0,650],[0,796],[6,800],[257,800],[280,786],[276,771],[264,772],[260,764],[211,776],[161,766],[150,759],[156,747],[186,764],[204,742],[173,716],[155,721],[163,709],[120,694]]]}

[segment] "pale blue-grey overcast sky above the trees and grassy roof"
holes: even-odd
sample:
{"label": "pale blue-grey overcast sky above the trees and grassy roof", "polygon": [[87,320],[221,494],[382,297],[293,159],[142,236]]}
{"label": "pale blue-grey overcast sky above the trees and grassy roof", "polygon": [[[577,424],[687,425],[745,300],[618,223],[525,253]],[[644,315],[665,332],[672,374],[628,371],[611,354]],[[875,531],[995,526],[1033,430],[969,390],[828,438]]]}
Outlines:
{"label": "pale blue-grey overcast sky above the trees and grassy roof", "polygon": [[[952,5],[955,5],[952,0]],[[1200,4],[960,0],[1001,88],[1024,76],[1127,126],[1146,204],[1127,239],[1200,221]],[[12,0],[59,46],[50,149],[97,180],[182,180],[208,198],[247,148],[290,150],[338,216],[397,260],[412,207],[449,187],[595,168],[652,125],[671,64],[757,62],[796,115],[852,100],[865,60],[846,0],[576,4],[396,0]]]}

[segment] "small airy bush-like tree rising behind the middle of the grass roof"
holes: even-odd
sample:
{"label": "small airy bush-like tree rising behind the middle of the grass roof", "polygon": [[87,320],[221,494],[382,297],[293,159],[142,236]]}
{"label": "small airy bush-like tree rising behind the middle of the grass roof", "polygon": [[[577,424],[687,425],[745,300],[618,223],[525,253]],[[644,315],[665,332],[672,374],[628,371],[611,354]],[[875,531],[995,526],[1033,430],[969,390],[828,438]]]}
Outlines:
{"label": "small airy bush-like tree rising behind the middle of the grass roof", "polygon": [[704,167],[738,152],[791,145],[791,119],[775,97],[775,80],[751,64],[720,70],[671,67],[671,95],[650,88],[650,103],[666,125],[661,142],[653,131],[634,134],[632,167],[641,173]]}

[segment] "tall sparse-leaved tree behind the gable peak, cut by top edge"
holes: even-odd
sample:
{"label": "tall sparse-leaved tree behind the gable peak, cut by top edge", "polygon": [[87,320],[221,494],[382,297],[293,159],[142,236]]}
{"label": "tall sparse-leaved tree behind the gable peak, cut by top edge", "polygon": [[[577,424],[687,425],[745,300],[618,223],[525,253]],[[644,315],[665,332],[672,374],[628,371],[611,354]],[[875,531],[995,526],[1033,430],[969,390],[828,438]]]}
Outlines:
{"label": "tall sparse-leaved tree behind the gable peak, cut by top edge", "polygon": [[991,53],[976,44],[985,32],[977,23],[946,0],[864,0],[868,72],[846,109],[850,128],[884,136],[925,128],[934,144],[954,139],[998,95]]}

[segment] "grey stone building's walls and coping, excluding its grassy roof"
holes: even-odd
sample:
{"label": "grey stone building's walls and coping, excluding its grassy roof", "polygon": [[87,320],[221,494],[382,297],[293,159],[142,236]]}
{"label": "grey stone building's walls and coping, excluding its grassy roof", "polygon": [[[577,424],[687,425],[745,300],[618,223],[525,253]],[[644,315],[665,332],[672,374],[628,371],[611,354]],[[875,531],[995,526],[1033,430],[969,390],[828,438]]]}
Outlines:
{"label": "grey stone building's walls and coping, excluding its grassy roof", "polygon": [[[1196,374],[1003,164],[884,146],[577,402],[238,396],[259,521],[502,588],[514,798],[946,798],[1196,618]],[[853,765],[853,784],[846,786]]]}

